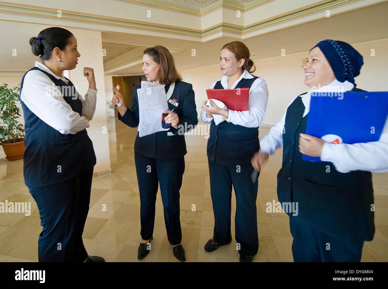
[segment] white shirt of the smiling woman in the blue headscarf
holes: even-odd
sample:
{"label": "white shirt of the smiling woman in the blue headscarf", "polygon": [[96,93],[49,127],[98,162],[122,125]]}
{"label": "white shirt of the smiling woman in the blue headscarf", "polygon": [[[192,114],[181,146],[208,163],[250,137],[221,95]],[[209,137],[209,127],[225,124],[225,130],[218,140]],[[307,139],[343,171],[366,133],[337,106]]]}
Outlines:
{"label": "white shirt of the smiling woman in the blue headscarf", "polygon": [[[310,90],[307,94],[301,95],[305,112],[303,117],[310,110],[310,98],[312,92],[322,91],[330,87],[343,86],[343,91],[352,90],[354,85],[348,81],[341,83],[334,80],[326,87],[319,90]],[[339,91],[339,90],[337,90]],[[287,109],[294,102],[296,97],[289,103],[281,120],[273,126],[268,135],[260,141],[260,152],[266,152],[271,155],[275,150],[283,145],[283,127],[286,121]],[[388,119],[385,122],[383,132],[378,141],[365,142],[357,144],[330,144],[325,142],[320,155],[321,161],[331,162],[340,173],[350,171],[372,171],[383,173],[388,171]]]}

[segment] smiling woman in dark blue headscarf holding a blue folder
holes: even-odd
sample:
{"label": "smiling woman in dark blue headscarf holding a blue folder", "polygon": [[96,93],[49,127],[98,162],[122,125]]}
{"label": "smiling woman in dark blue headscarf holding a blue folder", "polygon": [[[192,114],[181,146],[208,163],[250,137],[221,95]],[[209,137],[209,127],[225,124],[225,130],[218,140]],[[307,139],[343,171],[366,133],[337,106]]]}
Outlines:
{"label": "smiling woman in dark blue headscarf holding a blue folder", "polygon": [[[360,261],[364,241],[373,239],[371,171],[388,171],[387,124],[379,141],[369,143],[334,144],[305,134],[311,95],[362,92],[354,81],[362,64],[348,43],[324,40],[313,47],[303,66],[311,89],[290,102],[252,158],[259,171],[283,146],[277,195],[282,203],[298,204],[296,214],[288,213],[294,261]],[[302,154],[323,162],[303,161]]]}

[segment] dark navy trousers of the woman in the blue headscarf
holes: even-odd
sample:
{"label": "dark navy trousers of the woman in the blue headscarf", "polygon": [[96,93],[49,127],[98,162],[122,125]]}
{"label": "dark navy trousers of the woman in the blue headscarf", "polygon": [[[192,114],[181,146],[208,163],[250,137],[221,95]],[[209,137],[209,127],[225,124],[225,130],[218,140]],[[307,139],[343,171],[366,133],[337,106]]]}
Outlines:
{"label": "dark navy trousers of the woman in the blue headscarf", "polygon": [[364,240],[346,241],[290,218],[294,262],[359,262]]}

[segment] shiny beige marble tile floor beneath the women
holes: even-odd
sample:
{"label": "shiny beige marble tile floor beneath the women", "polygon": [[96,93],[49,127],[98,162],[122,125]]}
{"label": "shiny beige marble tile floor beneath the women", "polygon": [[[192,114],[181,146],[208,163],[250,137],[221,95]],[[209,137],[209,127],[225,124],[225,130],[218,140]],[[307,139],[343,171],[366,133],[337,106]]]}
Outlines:
{"label": "shiny beige marble tile floor beneath the women", "polygon": [[[90,255],[102,256],[106,261],[139,261],[140,199],[133,143],[137,128],[129,128],[121,121],[108,119],[109,147],[112,173],[93,178],[90,210],[83,233]],[[200,123],[201,124],[201,123]],[[203,123],[202,123],[203,125]],[[198,132],[198,131],[197,131]],[[205,130],[206,132],[206,130]],[[268,128],[260,128],[260,139]],[[199,134],[199,133],[197,133]],[[182,245],[187,261],[239,261],[236,241],[221,246],[212,253],[204,251],[204,244],[213,235],[214,217],[210,197],[207,138],[187,135],[186,169],[180,190],[180,220]],[[293,261],[292,236],[286,213],[266,213],[265,204],[276,196],[276,174],[281,167],[282,151],[270,157],[259,177],[257,194],[257,225],[259,251],[254,261]],[[388,261],[388,173],[373,173],[376,233],[371,242],[364,243],[361,261]],[[0,150],[0,202],[31,202],[31,215],[0,214],[0,261],[37,261],[40,226],[36,202],[23,180],[23,160],[7,161]],[[106,211],[102,211],[106,204]],[[196,210],[192,211],[192,204]],[[232,236],[236,199],[232,194]],[[178,261],[167,240],[160,192],[156,202],[154,239],[145,261]]]}

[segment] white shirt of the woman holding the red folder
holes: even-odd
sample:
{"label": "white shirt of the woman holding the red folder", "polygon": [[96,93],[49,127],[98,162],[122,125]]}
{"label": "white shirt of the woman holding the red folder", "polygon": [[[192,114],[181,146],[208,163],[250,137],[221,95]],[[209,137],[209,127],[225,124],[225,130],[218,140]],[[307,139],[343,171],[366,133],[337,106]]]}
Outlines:
{"label": "white shirt of the woman holding the red folder", "polygon": [[[240,78],[230,87],[234,89],[242,78],[253,78],[253,76],[245,69]],[[228,89],[228,76],[224,75],[221,80],[221,85],[224,89]],[[217,80],[219,81],[219,80]],[[213,82],[211,88],[213,89],[217,81]],[[262,78],[257,78],[253,81],[251,88],[249,88],[249,100],[247,111],[229,111],[229,117],[226,121],[234,125],[246,126],[248,128],[255,128],[260,125],[264,118],[265,109],[268,102],[268,88],[267,82]],[[206,111],[201,111],[201,118],[204,123],[210,123],[213,118],[206,117]]]}

